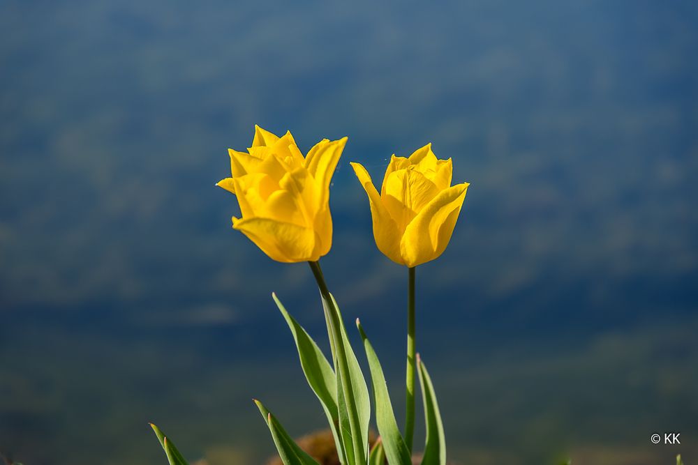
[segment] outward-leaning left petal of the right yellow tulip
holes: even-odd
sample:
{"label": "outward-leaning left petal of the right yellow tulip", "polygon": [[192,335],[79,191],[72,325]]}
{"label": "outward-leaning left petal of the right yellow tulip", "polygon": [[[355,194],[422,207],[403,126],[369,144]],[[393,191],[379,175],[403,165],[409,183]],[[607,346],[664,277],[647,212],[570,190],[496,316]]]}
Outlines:
{"label": "outward-leaning left petal of the right yellow tulip", "polygon": [[404,265],[405,262],[400,254],[401,231],[399,231],[397,224],[383,205],[383,201],[380,199],[380,195],[378,195],[378,191],[373,185],[371,176],[366,171],[366,168],[359,163],[350,163],[350,165],[354,169],[357,178],[359,178],[359,182],[364,186],[366,195],[369,196],[371,218],[373,220],[373,238],[376,239],[378,250],[395,263]]}

